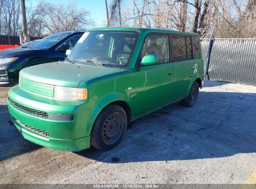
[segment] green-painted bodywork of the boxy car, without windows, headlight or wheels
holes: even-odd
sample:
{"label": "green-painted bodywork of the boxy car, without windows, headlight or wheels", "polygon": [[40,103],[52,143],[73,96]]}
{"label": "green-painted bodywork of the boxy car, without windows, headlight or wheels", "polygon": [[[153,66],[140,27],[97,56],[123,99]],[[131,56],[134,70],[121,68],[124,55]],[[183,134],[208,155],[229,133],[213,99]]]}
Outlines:
{"label": "green-painted bodywork of the boxy car, without windows, headlight or wheels", "polygon": [[[196,79],[203,80],[203,60],[192,59],[169,63],[156,63],[155,55],[146,55],[139,62],[140,50],[148,34],[196,35],[169,30],[138,28],[100,28],[98,30],[118,30],[138,32],[136,45],[131,52],[127,68],[103,67],[97,65],[77,65],[72,63],[46,63],[22,69],[21,83],[9,91],[9,98],[27,108],[47,113],[73,114],[73,121],[52,121],[26,113],[7,101],[12,121],[29,141],[53,149],[79,151],[90,147],[90,132],[100,111],[110,103],[122,101],[130,108],[130,121],[151,113],[163,106],[186,97]],[[115,44],[111,41],[110,45]],[[172,48],[170,48],[172,49]],[[73,48],[72,52],[75,51]],[[115,50],[113,50],[115,52]],[[110,57],[110,52],[107,53]],[[152,63],[152,65],[151,65]],[[87,88],[85,101],[54,99],[54,86]],[[35,127],[49,132],[49,141],[27,134],[24,127]],[[23,131],[22,131],[23,129]],[[29,131],[33,134],[37,132]]]}

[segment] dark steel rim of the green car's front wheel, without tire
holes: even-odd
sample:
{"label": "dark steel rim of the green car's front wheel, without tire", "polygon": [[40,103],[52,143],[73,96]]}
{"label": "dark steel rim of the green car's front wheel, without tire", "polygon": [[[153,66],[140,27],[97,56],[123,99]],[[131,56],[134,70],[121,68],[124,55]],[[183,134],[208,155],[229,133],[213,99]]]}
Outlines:
{"label": "dark steel rim of the green car's front wheel, without tire", "polygon": [[102,139],[105,144],[114,144],[121,136],[123,119],[120,113],[112,113],[105,119],[102,128]]}

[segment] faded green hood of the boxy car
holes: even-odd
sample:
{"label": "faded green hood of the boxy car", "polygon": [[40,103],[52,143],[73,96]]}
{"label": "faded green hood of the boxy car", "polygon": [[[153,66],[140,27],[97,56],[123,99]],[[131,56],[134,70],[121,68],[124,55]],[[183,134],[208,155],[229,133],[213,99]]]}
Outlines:
{"label": "faded green hood of the boxy car", "polygon": [[51,62],[24,68],[21,70],[20,76],[38,83],[78,87],[79,83],[83,80],[91,80],[98,76],[108,75],[118,71],[120,71],[120,68]]}

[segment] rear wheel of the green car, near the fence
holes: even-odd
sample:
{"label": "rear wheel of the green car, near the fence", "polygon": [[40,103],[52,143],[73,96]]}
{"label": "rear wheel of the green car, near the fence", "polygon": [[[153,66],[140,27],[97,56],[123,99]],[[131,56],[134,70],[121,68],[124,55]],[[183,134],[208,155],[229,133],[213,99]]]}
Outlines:
{"label": "rear wheel of the green car, near the fence", "polygon": [[181,103],[184,106],[192,107],[196,104],[197,98],[199,95],[199,85],[196,81],[194,81],[193,85],[191,86],[191,89],[189,91],[189,96],[184,98]]}

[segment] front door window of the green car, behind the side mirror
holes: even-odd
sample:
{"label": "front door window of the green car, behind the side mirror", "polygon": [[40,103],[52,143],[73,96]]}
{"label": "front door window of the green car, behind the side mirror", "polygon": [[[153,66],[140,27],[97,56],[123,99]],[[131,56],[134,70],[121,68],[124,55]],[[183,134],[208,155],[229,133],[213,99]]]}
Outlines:
{"label": "front door window of the green car, behind the side mirror", "polygon": [[169,62],[169,37],[168,35],[149,35],[141,49],[141,57],[156,55],[157,63]]}

